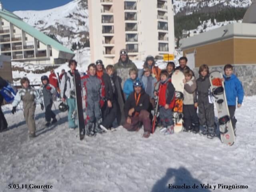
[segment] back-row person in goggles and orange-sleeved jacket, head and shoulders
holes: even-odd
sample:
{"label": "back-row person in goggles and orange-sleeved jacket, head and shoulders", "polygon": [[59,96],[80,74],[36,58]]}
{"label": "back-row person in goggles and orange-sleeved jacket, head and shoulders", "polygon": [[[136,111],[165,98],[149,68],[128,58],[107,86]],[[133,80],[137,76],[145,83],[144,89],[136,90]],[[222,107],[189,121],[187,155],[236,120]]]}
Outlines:
{"label": "back-row person in goggles and orange-sleeved jacket, head and shoulders", "polygon": [[[156,78],[158,81],[160,80],[160,72],[161,69],[158,66],[155,66],[156,62],[154,60],[154,57],[149,55],[146,57],[146,61],[144,62],[143,68],[144,67],[149,67],[150,72],[152,74],[152,77]],[[141,69],[138,72],[138,77],[141,79],[143,76],[144,70]]]}

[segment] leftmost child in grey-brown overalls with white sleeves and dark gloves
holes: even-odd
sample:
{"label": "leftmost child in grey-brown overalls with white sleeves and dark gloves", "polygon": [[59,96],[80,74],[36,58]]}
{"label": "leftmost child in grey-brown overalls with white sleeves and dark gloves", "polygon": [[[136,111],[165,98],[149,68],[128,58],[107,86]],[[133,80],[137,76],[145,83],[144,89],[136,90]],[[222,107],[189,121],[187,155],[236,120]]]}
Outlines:
{"label": "leftmost child in grey-brown overalls with white sleeves and dark gloves", "polygon": [[36,124],[35,124],[35,110],[36,103],[40,103],[41,109],[44,110],[42,98],[36,89],[30,86],[28,78],[24,77],[20,80],[22,88],[16,94],[14,101],[12,102],[12,114],[16,112],[16,107],[23,101],[23,110],[26,124],[29,130],[29,137],[36,136]]}

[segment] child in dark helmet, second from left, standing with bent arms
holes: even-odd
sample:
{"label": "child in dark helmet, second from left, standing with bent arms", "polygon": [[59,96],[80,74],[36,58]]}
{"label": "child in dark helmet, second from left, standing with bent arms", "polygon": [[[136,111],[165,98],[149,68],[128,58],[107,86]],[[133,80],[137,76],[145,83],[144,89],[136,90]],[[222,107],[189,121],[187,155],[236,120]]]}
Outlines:
{"label": "child in dark helmet, second from left, standing with bent arms", "polygon": [[51,119],[52,119],[52,124],[56,123],[56,116],[54,112],[52,111],[52,95],[56,92],[56,89],[54,86],[49,84],[49,79],[47,76],[42,76],[41,77],[42,81],[42,86],[40,88],[40,94],[42,94],[44,98],[44,108],[45,108],[45,120],[46,120],[46,126],[50,126],[51,124]]}

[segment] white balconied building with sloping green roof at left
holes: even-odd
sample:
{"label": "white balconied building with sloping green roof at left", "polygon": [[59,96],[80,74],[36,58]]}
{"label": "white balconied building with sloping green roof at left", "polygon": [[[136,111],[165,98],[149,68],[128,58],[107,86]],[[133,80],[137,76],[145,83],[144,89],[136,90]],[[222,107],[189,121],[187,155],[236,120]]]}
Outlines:
{"label": "white balconied building with sloping green roof at left", "polygon": [[1,3],[0,54],[32,64],[62,64],[74,57],[74,52],[4,10]]}

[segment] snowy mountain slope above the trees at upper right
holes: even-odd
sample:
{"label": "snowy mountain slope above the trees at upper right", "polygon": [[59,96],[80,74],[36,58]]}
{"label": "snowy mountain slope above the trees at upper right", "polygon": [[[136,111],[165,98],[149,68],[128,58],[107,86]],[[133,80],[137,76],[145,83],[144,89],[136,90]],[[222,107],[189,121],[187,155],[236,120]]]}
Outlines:
{"label": "snowy mountain slope above the trees at upper right", "polygon": [[174,14],[191,14],[193,11],[218,11],[225,6],[248,7],[252,0],[174,0]]}

